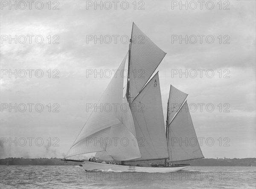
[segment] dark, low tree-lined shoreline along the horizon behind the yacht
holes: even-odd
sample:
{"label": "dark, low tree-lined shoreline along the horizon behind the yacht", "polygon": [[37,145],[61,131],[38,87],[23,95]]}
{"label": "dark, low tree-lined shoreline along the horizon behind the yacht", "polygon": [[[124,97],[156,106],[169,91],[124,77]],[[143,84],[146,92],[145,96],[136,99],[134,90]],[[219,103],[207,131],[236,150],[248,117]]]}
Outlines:
{"label": "dark, low tree-lined shoreline along the horizon behind the yacht", "polygon": [[[61,158],[16,158],[16,157],[9,157],[5,159],[0,159],[0,165],[6,166],[78,166],[79,162],[69,162],[70,164],[61,161]],[[138,162],[138,163],[158,163],[156,161],[147,161],[147,162]],[[177,164],[180,163],[190,163],[191,166],[253,166],[256,167],[256,158],[225,158],[225,159],[213,159],[213,158],[204,158],[198,160],[190,160],[190,161],[183,161],[183,162],[176,162]]]}

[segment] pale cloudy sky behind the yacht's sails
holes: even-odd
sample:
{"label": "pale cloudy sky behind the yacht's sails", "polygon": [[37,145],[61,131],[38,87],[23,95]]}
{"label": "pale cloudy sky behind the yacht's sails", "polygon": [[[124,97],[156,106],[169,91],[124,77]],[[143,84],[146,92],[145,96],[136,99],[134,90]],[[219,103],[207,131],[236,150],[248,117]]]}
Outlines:
{"label": "pale cloudy sky behind the yacht's sails", "polygon": [[156,70],[165,119],[172,84],[189,94],[204,157],[256,157],[255,1],[24,2],[1,1],[0,158],[64,157],[133,22],[167,52]]}

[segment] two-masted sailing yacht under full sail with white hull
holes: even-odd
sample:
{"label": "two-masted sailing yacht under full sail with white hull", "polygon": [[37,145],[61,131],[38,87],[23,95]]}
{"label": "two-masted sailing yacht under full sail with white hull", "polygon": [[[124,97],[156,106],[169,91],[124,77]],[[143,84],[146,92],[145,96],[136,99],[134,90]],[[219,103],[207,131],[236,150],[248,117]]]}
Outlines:
{"label": "two-masted sailing yacht under full sail with white hull", "polygon": [[[129,50],[64,161],[79,161],[86,171],[166,173],[190,166],[176,162],[204,158],[188,95],[172,85],[165,126],[159,73],[154,74],[165,55],[133,23]],[[95,153],[93,160],[70,159],[88,153]],[[149,160],[165,163],[138,164]]]}

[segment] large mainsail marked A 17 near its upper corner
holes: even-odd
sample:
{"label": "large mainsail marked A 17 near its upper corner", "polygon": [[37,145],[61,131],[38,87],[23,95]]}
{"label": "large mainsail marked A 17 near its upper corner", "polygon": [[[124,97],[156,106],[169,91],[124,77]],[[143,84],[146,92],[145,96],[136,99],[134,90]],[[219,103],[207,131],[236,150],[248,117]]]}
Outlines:
{"label": "large mainsail marked A 17 near its upper corner", "polygon": [[158,72],[131,103],[140,160],[168,158]]}

